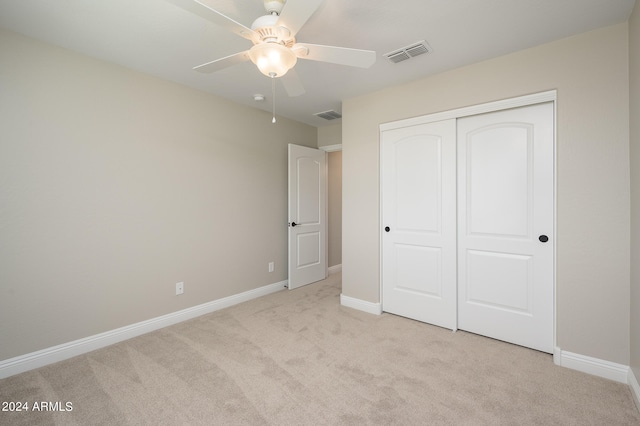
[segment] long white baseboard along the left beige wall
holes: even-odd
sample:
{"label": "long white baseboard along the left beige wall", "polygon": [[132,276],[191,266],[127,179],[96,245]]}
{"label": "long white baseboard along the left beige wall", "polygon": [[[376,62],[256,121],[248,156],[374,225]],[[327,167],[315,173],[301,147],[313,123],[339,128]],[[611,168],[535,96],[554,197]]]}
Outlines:
{"label": "long white baseboard along the left beige wall", "polygon": [[287,284],[287,281],[269,284],[254,290],[245,291],[244,293],[203,303],[202,305],[117,328],[105,333],[96,334],[94,336],[74,340],[73,342],[63,343],[37,352],[0,361],[0,379],[33,370],[34,368],[53,364],[54,362],[62,361],[74,356],[82,355],[105,346],[113,345],[114,343],[131,339],[132,337],[140,336],[182,321],[219,311],[220,309],[228,308],[230,306],[237,305],[238,303],[266,296],[268,294],[284,290]]}

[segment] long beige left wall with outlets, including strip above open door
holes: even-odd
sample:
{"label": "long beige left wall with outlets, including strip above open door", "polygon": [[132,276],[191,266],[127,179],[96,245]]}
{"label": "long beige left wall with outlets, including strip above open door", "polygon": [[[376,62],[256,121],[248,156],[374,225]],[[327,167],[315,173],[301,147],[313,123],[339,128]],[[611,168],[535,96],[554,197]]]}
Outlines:
{"label": "long beige left wall with outlets, including strip above open door", "polygon": [[0,359],[287,278],[287,144],[316,128],[13,33],[0,52]]}

